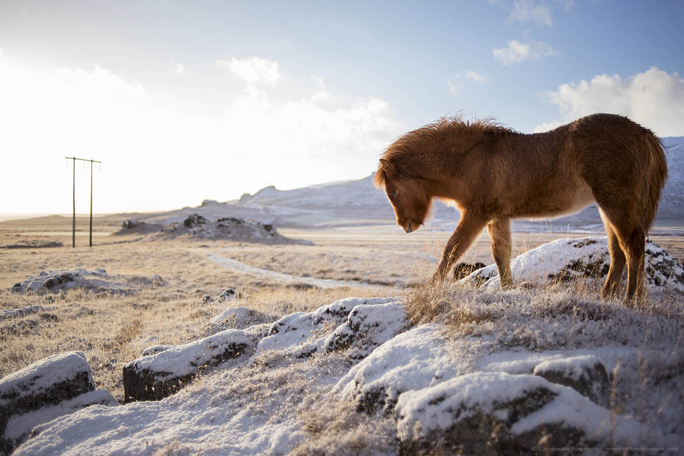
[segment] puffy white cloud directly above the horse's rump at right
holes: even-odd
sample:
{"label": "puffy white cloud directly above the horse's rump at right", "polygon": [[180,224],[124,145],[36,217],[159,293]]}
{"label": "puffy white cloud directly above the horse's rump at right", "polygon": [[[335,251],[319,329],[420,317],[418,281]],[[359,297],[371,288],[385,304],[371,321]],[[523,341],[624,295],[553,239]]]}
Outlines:
{"label": "puffy white cloud directly above the horse's rump at right", "polygon": [[[657,135],[684,135],[684,80],[655,66],[637,75],[596,75],[591,81],[560,85],[542,92],[557,105],[566,123],[596,112],[616,113],[653,129]],[[543,131],[551,123],[537,126]]]}

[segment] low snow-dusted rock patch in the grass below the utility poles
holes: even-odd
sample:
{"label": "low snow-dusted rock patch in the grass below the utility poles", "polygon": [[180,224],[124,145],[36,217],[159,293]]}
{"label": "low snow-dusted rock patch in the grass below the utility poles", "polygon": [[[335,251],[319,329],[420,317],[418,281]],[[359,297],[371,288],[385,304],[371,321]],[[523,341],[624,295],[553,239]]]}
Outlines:
{"label": "low snow-dusted rock patch in the grass below the utility poles", "polygon": [[[122,283],[124,282],[124,283]],[[110,276],[105,269],[57,269],[55,271],[40,271],[38,276],[29,277],[23,282],[12,286],[16,293],[27,292],[59,292],[71,289],[83,289],[93,293],[112,293],[130,295],[139,286],[163,285],[160,276],[152,278],[140,276]]]}

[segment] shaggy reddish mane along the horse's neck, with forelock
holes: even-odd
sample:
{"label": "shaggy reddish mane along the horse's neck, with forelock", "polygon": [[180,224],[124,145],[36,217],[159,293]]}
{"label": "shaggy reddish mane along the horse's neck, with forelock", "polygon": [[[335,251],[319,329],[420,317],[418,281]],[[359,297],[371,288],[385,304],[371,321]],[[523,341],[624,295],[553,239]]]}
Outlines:
{"label": "shaggy reddish mane along the horse's neck, with forelock", "polygon": [[[401,163],[407,155],[420,150],[445,148],[461,144],[464,150],[470,149],[482,139],[499,135],[518,134],[508,129],[493,118],[480,120],[463,120],[461,116],[443,117],[435,122],[409,131],[390,144],[381,159],[392,163]],[[385,185],[385,172],[381,165],[373,177],[373,183],[380,189]]]}

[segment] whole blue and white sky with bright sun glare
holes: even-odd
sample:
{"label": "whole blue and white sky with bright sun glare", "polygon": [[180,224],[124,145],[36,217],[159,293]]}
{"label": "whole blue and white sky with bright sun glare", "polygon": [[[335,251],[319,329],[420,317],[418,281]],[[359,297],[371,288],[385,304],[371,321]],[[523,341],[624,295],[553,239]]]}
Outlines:
{"label": "whole blue and white sky with bright sun glare", "polygon": [[[368,176],[442,116],[684,135],[684,2],[0,0],[0,213],[161,211]],[[90,164],[76,165],[77,212]]]}

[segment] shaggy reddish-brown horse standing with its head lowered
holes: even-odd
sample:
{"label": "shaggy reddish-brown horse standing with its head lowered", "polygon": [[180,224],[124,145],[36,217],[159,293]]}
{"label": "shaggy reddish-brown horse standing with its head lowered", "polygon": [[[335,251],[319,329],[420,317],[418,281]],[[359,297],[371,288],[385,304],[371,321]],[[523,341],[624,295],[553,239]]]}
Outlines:
{"label": "shaggy reddish-brown horse standing with its head lowered", "polygon": [[434,280],[447,278],[486,227],[502,286],[513,282],[510,219],[556,217],[596,202],[611,257],[601,295],[618,293],[627,263],[629,299],[644,291],[645,238],[667,176],[661,140],[626,117],[594,114],[534,135],[491,120],[442,118],[393,142],[375,184],[406,232],[423,225],[433,198],[458,206]]}

